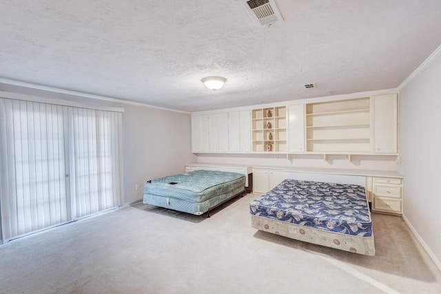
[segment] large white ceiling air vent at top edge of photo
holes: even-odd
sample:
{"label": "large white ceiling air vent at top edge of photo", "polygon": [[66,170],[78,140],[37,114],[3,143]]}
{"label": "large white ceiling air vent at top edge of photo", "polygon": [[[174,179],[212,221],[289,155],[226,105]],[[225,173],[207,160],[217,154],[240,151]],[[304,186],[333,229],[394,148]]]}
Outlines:
{"label": "large white ceiling air vent at top edge of photo", "polygon": [[243,0],[243,6],[249,14],[262,26],[269,26],[276,21],[283,21],[274,0]]}

